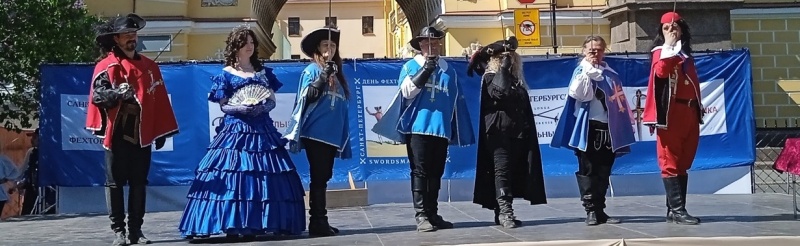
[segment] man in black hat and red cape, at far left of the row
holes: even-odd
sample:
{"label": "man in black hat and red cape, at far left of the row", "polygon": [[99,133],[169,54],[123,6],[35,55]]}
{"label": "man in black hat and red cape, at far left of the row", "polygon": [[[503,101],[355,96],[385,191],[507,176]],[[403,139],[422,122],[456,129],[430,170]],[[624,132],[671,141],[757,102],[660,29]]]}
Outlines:
{"label": "man in black hat and red cape, at far left of the row", "polygon": [[[135,14],[112,18],[98,28],[102,56],[89,92],[86,128],[106,149],[106,202],[113,245],[150,243],[142,233],[151,144],[161,149],[178,124],[158,65],[136,52],[136,32],[146,22]],[[128,233],[125,199],[129,186]],[[127,239],[127,240],[126,240]],[[129,241],[129,242],[128,242]]]}

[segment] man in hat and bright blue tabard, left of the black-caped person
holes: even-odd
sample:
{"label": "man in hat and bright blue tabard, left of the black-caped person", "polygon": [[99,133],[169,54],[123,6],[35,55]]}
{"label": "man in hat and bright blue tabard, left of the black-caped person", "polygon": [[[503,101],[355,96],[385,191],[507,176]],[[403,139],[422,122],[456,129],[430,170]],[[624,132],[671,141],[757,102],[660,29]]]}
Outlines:
{"label": "man in hat and bright blue tabard, left of the black-caped person", "polygon": [[406,62],[400,90],[372,131],[406,144],[417,231],[453,228],[438,214],[449,145],[475,143],[466,99],[453,67],[439,58],[444,32],[425,27],[409,44],[422,54]]}

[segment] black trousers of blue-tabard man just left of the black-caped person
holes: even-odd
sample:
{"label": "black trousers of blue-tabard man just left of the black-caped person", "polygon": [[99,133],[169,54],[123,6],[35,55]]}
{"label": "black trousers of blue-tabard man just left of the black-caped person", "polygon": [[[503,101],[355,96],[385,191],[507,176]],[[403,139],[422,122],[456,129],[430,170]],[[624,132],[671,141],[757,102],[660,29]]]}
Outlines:
{"label": "black trousers of blue-tabard man just left of the black-caped person", "polygon": [[411,167],[411,192],[417,217],[438,215],[439,189],[447,162],[446,138],[406,135],[406,151]]}

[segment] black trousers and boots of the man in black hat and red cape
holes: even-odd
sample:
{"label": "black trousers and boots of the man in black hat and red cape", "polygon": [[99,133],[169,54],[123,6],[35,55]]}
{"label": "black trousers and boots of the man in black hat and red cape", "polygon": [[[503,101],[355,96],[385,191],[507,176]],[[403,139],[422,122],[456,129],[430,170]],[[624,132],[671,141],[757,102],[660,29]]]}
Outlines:
{"label": "black trousers and boots of the man in black hat and red cape", "polygon": [[141,231],[152,150],[150,146],[142,148],[124,140],[122,134],[111,137],[111,150],[106,150],[105,158],[106,205],[111,229],[115,232],[125,230],[125,199],[122,187],[128,185],[128,229]]}

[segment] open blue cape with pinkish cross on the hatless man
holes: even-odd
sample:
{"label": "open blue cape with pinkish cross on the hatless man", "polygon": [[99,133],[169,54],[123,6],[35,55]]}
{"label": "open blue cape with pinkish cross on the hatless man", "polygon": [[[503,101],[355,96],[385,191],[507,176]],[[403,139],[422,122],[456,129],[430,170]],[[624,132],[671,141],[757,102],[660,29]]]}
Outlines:
{"label": "open blue cape with pinkish cross on the hatless man", "polygon": [[[572,74],[572,80],[583,73],[583,66],[578,66]],[[616,155],[622,156],[630,153],[630,145],[636,142],[634,138],[632,112],[628,100],[622,91],[622,83],[616,71],[610,67],[603,69],[603,81],[592,82],[592,87],[600,89],[604,94],[608,108],[608,129],[611,135],[611,149]],[[577,104],[577,106],[576,106]],[[589,143],[589,109],[591,101],[578,102],[575,98],[567,97],[561,119],[558,121],[556,131],[550,147],[569,148],[586,151]],[[577,108],[577,109],[576,109]],[[577,110],[577,113],[576,113]]]}

